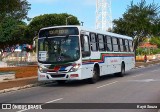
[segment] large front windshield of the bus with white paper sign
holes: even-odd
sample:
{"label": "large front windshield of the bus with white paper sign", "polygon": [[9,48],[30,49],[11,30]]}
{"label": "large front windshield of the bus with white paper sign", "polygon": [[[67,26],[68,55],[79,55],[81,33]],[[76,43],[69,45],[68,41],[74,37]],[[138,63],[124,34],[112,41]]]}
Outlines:
{"label": "large front windshield of the bus with white paper sign", "polygon": [[42,63],[72,62],[79,58],[78,36],[55,36],[38,40],[38,61]]}

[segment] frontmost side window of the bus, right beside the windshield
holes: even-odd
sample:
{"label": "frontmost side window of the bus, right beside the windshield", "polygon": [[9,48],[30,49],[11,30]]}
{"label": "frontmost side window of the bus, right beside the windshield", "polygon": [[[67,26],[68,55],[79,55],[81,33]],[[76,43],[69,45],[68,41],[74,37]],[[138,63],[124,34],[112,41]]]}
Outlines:
{"label": "frontmost side window of the bus, right beside the windshield", "polygon": [[82,57],[90,56],[89,37],[86,35],[81,35],[81,50]]}

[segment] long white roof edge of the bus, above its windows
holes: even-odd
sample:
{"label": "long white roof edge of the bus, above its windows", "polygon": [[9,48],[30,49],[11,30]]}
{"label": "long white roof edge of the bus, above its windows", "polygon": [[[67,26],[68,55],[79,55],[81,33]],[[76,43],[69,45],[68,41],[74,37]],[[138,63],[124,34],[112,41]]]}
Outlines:
{"label": "long white roof edge of the bus, above its windows", "polygon": [[40,30],[45,30],[45,29],[50,29],[50,28],[58,28],[58,27],[77,27],[79,30],[83,30],[86,32],[93,32],[93,33],[98,33],[98,34],[109,35],[109,36],[133,40],[133,38],[130,36],[111,33],[111,32],[107,32],[107,31],[105,32],[105,31],[100,31],[100,30],[95,30],[95,29],[89,29],[89,28],[85,28],[85,27],[79,26],[79,25],[65,25],[65,26],[63,25],[63,26],[45,27],[45,28],[41,28]]}

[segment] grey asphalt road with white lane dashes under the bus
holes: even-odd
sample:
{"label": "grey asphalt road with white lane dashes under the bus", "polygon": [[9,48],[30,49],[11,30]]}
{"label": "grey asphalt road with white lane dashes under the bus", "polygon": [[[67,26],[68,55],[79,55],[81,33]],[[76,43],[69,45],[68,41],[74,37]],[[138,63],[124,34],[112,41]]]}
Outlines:
{"label": "grey asphalt road with white lane dashes under the bus", "polygon": [[[133,69],[128,71],[125,77],[105,76],[96,84],[88,84],[86,81],[70,81],[64,85],[52,83],[0,94],[0,103],[40,103],[42,107],[50,103],[73,103],[68,104],[67,107],[76,108],[38,110],[40,112],[158,112],[158,109],[145,109],[146,105],[139,105],[139,103],[148,103],[148,105],[149,103],[160,103],[160,65]],[[129,109],[135,104],[138,108],[144,107],[144,109]],[[64,105],[61,106],[64,107]],[[103,106],[101,108],[97,105]],[[122,109],[114,109],[117,108],[114,107],[115,105]],[[111,109],[103,109],[107,106]],[[86,107],[89,109],[85,109]],[[37,112],[37,110],[23,109],[3,111]]]}

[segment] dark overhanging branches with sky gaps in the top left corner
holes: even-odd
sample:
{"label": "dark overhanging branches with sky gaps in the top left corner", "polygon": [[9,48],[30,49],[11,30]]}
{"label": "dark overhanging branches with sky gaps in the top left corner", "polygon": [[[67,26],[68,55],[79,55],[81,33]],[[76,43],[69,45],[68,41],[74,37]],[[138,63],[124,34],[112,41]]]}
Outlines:
{"label": "dark overhanging branches with sky gaps in the top left corner", "polygon": [[0,20],[6,17],[16,20],[27,19],[29,10],[30,4],[26,0],[0,0]]}

